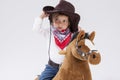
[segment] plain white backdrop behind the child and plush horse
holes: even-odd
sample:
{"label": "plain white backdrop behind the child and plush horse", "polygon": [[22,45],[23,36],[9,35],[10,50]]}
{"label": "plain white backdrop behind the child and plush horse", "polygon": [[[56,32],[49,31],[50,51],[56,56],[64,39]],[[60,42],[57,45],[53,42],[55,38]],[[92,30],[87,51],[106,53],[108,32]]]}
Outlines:
{"label": "plain white backdrop behind the child and plush horse", "polygon": [[[32,32],[34,18],[45,5],[59,0],[0,0],[0,80],[33,80],[47,63],[44,38]],[[93,80],[120,80],[120,1],[69,0],[81,15],[79,25],[96,31],[101,52],[99,65],[91,65]],[[47,20],[46,20],[47,22]]]}

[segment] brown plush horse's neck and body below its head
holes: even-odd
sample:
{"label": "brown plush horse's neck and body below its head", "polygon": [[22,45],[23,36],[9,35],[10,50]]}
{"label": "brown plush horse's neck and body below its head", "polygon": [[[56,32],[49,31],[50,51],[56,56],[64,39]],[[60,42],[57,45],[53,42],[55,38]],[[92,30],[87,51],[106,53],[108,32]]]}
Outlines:
{"label": "brown plush horse's neck and body below its head", "polygon": [[[71,49],[70,46],[67,49]],[[53,80],[92,80],[88,62],[75,58],[71,50],[66,51],[70,54],[65,55],[63,64]]]}

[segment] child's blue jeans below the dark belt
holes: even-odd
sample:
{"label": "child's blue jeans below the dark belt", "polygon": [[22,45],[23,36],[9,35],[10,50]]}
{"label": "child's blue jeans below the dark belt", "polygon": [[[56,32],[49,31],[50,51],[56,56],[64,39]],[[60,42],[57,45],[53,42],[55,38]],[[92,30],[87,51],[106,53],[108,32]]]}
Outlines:
{"label": "child's blue jeans below the dark belt", "polygon": [[47,64],[45,70],[40,75],[39,80],[52,80],[52,78],[57,74],[58,70],[58,67],[53,67]]}

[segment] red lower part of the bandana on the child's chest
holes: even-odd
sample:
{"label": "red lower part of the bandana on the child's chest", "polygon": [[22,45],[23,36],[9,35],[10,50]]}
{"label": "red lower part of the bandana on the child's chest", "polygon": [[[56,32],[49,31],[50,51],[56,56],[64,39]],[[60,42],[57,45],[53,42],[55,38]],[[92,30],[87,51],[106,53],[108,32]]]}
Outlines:
{"label": "red lower part of the bandana on the child's chest", "polygon": [[64,49],[71,40],[71,33],[69,33],[62,41],[60,41],[57,36],[54,36],[54,38],[57,46],[60,47],[61,49]]}

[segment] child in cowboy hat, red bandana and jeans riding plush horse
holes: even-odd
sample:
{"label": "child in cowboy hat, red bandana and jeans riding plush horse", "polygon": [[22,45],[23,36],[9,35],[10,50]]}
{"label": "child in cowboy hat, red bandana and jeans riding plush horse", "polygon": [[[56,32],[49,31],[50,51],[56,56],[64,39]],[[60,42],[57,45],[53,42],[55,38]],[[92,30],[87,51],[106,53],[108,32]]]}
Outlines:
{"label": "child in cowboy hat, red bandana and jeans riding plush horse", "polygon": [[[42,21],[49,17],[50,29],[44,29]],[[59,55],[59,51],[66,49],[73,35],[78,32],[80,16],[75,13],[74,6],[65,0],[61,0],[54,8],[45,6],[40,17],[35,19],[33,31],[43,34],[49,46],[49,61],[46,68],[36,80],[52,80],[62,64],[64,55]]]}

